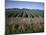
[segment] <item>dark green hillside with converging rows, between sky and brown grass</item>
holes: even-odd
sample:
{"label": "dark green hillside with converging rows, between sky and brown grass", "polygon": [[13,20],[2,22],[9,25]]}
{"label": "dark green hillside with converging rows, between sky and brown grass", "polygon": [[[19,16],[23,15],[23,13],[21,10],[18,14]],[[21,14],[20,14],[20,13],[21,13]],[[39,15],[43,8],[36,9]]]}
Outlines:
{"label": "dark green hillside with converging rows, between sky and brown grass", "polygon": [[44,16],[44,10],[38,10],[38,9],[18,9],[18,8],[12,8],[12,9],[6,9],[6,16],[14,16],[14,17],[38,17],[38,16]]}

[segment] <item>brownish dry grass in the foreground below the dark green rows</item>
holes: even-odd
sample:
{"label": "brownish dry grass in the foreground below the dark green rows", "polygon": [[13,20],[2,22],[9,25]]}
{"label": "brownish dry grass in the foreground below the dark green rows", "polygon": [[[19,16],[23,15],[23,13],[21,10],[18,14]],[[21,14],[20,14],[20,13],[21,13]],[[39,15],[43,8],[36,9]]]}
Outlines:
{"label": "brownish dry grass in the foreground below the dark green rows", "polygon": [[7,33],[43,32],[44,19],[42,17],[7,17]]}

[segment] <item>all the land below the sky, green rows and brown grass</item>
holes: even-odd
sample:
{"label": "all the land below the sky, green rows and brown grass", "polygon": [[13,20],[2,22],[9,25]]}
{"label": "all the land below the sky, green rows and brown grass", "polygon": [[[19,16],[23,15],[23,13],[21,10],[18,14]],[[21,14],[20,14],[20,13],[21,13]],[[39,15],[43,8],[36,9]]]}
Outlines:
{"label": "all the land below the sky, green rows and brown grass", "polygon": [[6,9],[6,33],[44,32],[44,10]]}

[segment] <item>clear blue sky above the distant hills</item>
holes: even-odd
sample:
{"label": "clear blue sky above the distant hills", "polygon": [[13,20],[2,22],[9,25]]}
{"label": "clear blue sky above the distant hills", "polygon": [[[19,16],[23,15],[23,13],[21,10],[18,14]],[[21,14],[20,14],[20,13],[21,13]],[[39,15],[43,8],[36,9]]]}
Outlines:
{"label": "clear blue sky above the distant hills", "polygon": [[44,9],[44,3],[42,2],[24,2],[24,1],[6,1],[5,8],[27,8],[27,9]]}

